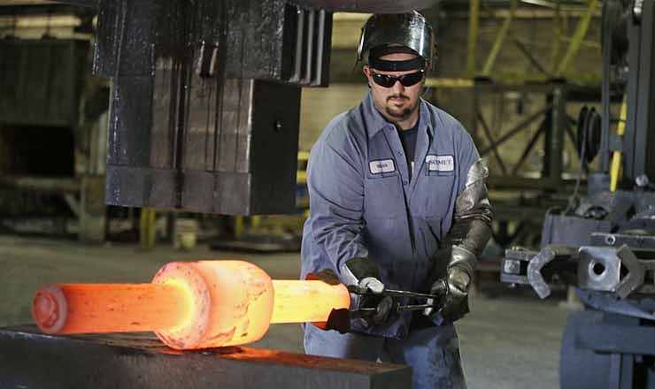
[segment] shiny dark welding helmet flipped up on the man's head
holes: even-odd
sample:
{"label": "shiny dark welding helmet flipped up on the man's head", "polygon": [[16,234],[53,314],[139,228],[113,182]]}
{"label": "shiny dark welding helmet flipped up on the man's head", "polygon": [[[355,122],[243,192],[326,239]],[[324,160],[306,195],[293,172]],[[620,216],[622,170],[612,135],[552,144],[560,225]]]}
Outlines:
{"label": "shiny dark welding helmet flipped up on the man's head", "polygon": [[[381,61],[380,57],[394,52],[417,55],[409,61]],[[357,61],[368,54],[368,65],[389,72],[401,72],[417,67],[432,68],[436,55],[435,35],[428,21],[417,11],[376,14],[362,27]]]}

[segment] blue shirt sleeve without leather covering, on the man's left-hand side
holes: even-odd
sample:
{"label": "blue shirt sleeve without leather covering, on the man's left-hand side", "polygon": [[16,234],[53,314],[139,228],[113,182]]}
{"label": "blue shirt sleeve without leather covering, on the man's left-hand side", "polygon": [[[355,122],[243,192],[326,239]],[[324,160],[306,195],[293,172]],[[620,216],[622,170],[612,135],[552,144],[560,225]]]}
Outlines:
{"label": "blue shirt sleeve without leather covering, on the man's left-hand side", "polygon": [[354,257],[367,257],[362,243],[364,178],[356,149],[343,141],[335,147],[327,137],[316,143],[307,166],[310,228],[315,244],[337,273]]}

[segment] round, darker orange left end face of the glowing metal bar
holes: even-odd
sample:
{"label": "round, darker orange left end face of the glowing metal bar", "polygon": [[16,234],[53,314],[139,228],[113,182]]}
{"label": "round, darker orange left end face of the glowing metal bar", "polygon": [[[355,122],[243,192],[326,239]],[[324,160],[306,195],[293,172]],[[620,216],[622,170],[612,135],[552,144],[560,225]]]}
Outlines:
{"label": "round, darker orange left end face of the glowing metal bar", "polygon": [[55,334],[64,328],[68,317],[68,301],[56,285],[42,286],[32,302],[32,317],[42,332]]}

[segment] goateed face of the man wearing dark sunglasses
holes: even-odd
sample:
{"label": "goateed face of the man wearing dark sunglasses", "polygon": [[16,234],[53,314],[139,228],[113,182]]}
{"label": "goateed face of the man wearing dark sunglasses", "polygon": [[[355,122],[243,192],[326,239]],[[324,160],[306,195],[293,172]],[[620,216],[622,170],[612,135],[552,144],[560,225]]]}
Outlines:
{"label": "goateed face of the man wearing dark sunglasses", "polygon": [[[381,59],[388,61],[403,61],[412,59],[416,56],[408,53],[393,53],[382,56]],[[368,84],[371,86],[373,101],[375,107],[391,122],[404,121],[412,116],[419,106],[420,91],[423,87],[425,79],[412,85],[405,87],[400,82],[396,82],[389,88],[381,87],[376,84],[373,77],[374,73],[389,74],[392,76],[402,76],[413,72],[418,72],[420,69],[410,70],[405,72],[383,72],[375,70],[369,66],[364,66],[364,73],[368,78]]]}

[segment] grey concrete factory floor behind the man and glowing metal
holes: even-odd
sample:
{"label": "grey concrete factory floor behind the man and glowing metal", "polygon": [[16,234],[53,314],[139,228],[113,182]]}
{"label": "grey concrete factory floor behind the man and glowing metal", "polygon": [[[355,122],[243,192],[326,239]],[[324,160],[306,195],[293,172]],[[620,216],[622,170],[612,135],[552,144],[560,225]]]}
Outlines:
{"label": "grey concrete factory floor behind the man and glowing metal", "polygon": [[[273,278],[297,278],[297,254],[255,255],[191,252],[159,245],[143,251],[135,245],[83,246],[70,240],[0,236],[0,326],[31,322],[35,290],[52,282],[147,282],[162,264],[199,259],[245,259]],[[459,321],[461,352],[470,389],[554,388],[559,386],[559,341],[566,310],[558,301],[530,294],[477,294],[473,312]],[[302,353],[298,324],[276,324],[254,347]]]}

